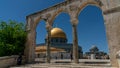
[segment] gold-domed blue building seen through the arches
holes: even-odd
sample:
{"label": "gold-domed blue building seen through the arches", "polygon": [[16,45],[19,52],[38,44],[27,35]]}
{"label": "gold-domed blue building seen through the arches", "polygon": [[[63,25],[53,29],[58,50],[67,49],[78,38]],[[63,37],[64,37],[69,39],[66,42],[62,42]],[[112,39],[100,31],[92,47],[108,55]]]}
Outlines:
{"label": "gold-domed blue building seen through the arches", "polygon": [[[45,39],[46,41],[47,39]],[[67,43],[66,34],[60,28],[53,28],[51,30],[51,58],[54,59],[70,59],[73,52],[73,44]],[[78,46],[79,59],[83,57],[82,47]],[[36,57],[46,57],[46,44],[37,44],[35,49]]]}

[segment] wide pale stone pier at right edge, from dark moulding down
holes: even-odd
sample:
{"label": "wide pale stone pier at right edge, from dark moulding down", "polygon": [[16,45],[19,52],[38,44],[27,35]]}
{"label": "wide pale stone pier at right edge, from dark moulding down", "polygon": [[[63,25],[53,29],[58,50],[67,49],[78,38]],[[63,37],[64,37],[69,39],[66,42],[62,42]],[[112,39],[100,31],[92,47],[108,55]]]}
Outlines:
{"label": "wide pale stone pier at right edge, from dark moulding down", "polygon": [[120,7],[104,11],[104,19],[111,65],[118,67],[116,53],[120,50]]}

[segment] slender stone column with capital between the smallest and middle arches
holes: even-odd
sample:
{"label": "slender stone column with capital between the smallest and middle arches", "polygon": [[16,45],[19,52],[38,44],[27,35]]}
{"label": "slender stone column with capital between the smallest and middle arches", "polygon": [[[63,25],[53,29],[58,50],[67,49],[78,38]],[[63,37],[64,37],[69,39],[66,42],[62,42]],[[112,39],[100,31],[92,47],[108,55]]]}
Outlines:
{"label": "slender stone column with capital between the smallest and middle arches", "polygon": [[50,63],[51,60],[51,56],[50,56],[50,45],[51,45],[51,26],[49,24],[46,25],[46,29],[47,29],[47,42],[46,42],[46,46],[47,46],[47,52],[46,52],[46,62]]}

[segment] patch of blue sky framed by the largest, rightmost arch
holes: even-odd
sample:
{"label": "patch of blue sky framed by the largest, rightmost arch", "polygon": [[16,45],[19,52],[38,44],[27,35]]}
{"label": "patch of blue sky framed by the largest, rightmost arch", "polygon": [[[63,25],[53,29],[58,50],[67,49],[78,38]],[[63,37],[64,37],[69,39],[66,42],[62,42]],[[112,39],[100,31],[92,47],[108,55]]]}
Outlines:
{"label": "patch of blue sky framed by the largest, rightmost arch", "polygon": [[84,52],[95,45],[109,53],[102,10],[97,6],[87,5],[78,15],[78,19],[78,41],[83,45]]}

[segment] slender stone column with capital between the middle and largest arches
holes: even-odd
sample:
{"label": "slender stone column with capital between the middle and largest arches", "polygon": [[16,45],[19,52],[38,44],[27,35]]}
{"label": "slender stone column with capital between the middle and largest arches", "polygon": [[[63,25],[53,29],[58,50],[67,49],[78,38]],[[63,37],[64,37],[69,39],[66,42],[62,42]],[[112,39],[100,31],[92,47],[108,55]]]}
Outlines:
{"label": "slender stone column with capital between the middle and largest arches", "polygon": [[78,60],[78,38],[77,38],[77,24],[78,19],[73,18],[72,22],[72,31],[73,31],[73,62],[79,63]]}

